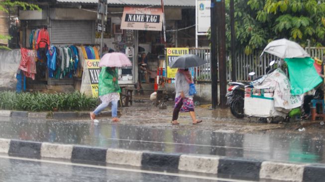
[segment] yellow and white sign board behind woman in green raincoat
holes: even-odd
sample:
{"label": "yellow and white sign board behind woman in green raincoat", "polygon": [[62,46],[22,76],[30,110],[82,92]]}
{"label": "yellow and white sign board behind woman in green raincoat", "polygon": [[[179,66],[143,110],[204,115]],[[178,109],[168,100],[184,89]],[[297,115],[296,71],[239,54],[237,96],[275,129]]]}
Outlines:
{"label": "yellow and white sign board behind woman in green raincoat", "polygon": [[100,63],[99,59],[89,59],[86,60],[87,62],[87,68],[88,68],[88,73],[90,77],[90,85],[92,87],[92,93],[93,97],[98,97],[98,81],[99,81],[99,75],[101,72],[100,67],[98,64]]}

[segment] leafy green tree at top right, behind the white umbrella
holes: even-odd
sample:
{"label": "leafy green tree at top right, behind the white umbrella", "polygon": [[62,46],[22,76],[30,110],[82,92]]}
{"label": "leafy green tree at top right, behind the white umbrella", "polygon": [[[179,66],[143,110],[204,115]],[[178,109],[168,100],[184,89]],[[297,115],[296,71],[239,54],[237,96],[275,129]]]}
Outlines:
{"label": "leafy green tree at top right, behind the white umbrella", "polygon": [[[229,0],[225,3],[229,51]],[[312,46],[325,45],[325,0],[234,0],[234,3],[238,51],[250,54],[280,38],[294,40],[302,46],[307,45],[307,39]]]}

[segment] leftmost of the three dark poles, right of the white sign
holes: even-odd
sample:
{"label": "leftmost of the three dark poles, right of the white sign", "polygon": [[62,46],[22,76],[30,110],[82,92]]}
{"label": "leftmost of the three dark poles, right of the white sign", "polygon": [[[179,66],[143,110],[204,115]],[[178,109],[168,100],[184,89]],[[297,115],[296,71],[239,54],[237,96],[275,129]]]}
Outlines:
{"label": "leftmost of the three dark poles, right of the white sign", "polygon": [[211,97],[212,108],[216,108],[218,105],[218,69],[217,69],[217,24],[216,24],[216,0],[211,0]]}

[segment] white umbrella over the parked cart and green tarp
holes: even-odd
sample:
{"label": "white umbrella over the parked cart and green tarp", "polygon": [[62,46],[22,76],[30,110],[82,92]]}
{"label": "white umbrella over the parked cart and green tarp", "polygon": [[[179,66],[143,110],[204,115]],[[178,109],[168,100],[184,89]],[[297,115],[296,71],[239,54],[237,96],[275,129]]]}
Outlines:
{"label": "white umbrella over the parked cart and green tarp", "polygon": [[275,55],[279,58],[305,58],[310,57],[310,55],[296,42],[290,41],[288,39],[274,40],[267,44],[264,48],[261,56],[264,52]]}

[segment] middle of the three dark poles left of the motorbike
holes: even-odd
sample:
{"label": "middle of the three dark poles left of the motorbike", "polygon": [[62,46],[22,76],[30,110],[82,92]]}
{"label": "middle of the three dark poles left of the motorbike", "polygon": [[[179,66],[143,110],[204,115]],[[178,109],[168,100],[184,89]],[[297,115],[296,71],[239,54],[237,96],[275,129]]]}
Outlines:
{"label": "middle of the three dark poles left of the motorbike", "polygon": [[220,107],[226,107],[227,92],[227,67],[225,50],[225,0],[217,0],[217,39],[218,39],[218,60],[219,60],[219,83],[220,83]]}

